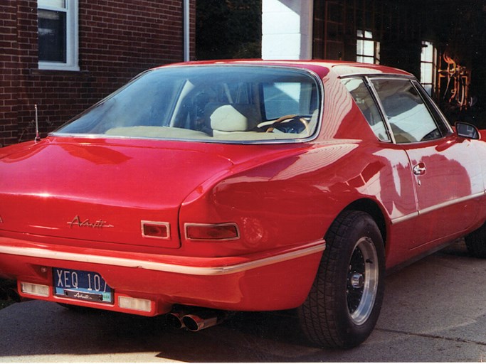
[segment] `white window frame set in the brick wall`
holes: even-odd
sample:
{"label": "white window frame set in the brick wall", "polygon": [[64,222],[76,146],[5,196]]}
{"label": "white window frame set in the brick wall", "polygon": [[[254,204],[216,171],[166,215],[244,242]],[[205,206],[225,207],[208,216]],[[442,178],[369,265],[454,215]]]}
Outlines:
{"label": "white window frame set in the brick wall", "polygon": [[66,14],[66,61],[38,61],[39,70],[79,71],[78,0],[65,0],[65,7],[56,6],[53,0],[38,0],[38,9],[63,11]]}

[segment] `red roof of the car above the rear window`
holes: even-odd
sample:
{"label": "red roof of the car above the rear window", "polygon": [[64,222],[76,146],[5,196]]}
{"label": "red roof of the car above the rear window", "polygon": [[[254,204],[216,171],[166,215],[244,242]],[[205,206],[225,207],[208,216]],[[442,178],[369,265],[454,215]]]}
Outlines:
{"label": "red roof of the car above the rear window", "polygon": [[[335,73],[338,77],[352,75],[406,75],[412,76],[404,70],[392,68],[384,65],[374,65],[371,63],[357,63],[339,60],[203,60],[185,63],[174,63],[168,65],[266,65],[266,66],[286,66],[312,70],[320,77],[324,77],[329,72]],[[162,66],[167,67],[167,66]]]}

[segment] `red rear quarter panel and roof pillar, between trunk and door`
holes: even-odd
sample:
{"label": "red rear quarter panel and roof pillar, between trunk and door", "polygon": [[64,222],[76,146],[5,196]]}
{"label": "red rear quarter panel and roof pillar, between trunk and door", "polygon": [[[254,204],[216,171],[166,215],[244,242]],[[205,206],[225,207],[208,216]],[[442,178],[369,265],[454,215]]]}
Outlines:
{"label": "red rear quarter panel and roof pillar, between trunk and door", "polygon": [[[379,142],[342,82],[324,77],[324,113],[319,137],[271,159],[236,164],[215,176],[181,206],[185,223],[237,223],[241,240],[187,241],[181,250],[200,256],[242,255],[322,239],[337,215],[355,201],[373,201],[386,223],[388,264],[408,256],[405,232],[416,213],[413,178],[406,153]],[[245,146],[241,146],[244,148]],[[392,231],[393,230],[393,231]]]}

